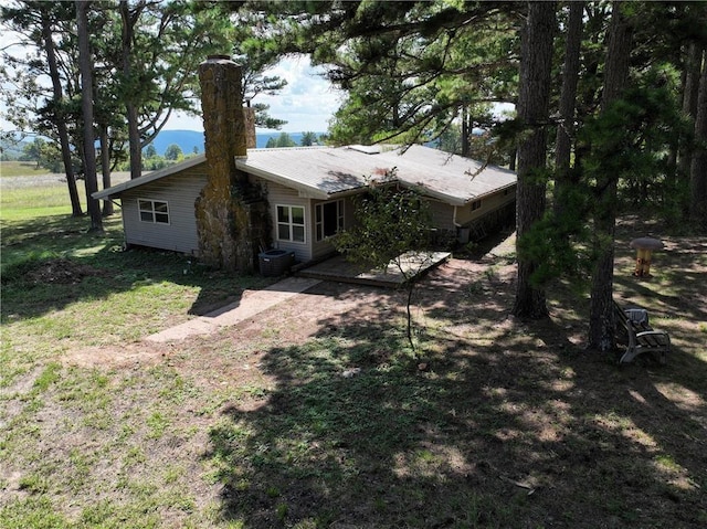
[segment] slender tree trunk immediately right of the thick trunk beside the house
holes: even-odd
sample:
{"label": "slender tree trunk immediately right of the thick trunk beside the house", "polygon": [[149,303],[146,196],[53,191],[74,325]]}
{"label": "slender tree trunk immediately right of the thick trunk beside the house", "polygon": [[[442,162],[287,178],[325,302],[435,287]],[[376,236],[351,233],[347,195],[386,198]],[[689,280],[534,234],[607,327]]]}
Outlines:
{"label": "slender tree trunk immediately right of the thick trunk beside the house", "polygon": [[560,124],[557,127],[555,147],[555,213],[562,216],[566,210],[564,198],[576,183],[572,177],[570,159],[574,136],[574,108],[577,106],[577,84],[579,81],[579,53],[582,44],[582,14],[584,2],[571,2],[564,45],[564,67],[562,70],[562,89],[560,93]]}

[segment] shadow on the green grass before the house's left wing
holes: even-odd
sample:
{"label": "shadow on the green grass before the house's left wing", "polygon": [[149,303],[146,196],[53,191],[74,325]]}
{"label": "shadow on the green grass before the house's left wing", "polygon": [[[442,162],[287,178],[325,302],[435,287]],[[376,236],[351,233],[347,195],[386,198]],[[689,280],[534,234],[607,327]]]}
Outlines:
{"label": "shadow on the green grass before the house's left wing", "polygon": [[3,226],[3,321],[166,283],[197,288],[189,314],[204,315],[238,303],[244,288],[273,283],[255,275],[234,277],[173,252],[124,251],[122,232],[87,233],[85,224],[85,219],[56,215]]}

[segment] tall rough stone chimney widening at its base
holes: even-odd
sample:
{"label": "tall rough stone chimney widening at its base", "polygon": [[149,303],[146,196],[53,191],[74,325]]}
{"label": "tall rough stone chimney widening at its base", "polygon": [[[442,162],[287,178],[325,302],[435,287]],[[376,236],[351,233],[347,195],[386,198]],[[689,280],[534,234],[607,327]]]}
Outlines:
{"label": "tall rough stone chimney widening at its base", "polygon": [[255,139],[254,116],[243,108],[241,97],[241,66],[228,55],[209,56],[199,66],[199,81],[209,173],[196,202],[200,258],[218,268],[250,273],[267,230],[261,193],[235,167],[236,158],[247,157],[246,121],[252,123],[251,141]]}

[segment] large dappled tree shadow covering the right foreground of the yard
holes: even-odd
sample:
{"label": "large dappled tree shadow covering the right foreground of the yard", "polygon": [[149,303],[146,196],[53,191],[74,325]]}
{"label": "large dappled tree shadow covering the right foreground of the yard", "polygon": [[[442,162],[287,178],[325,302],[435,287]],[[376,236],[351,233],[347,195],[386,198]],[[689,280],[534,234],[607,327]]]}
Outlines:
{"label": "large dappled tree shadow covering the right foreground of the yard", "polygon": [[455,278],[432,273],[421,288],[422,353],[405,347],[394,293],[266,351],[272,391],[211,431],[224,517],[254,528],[707,523],[703,351],[677,339],[667,368],[619,368],[582,349],[582,304],[568,293],[552,297],[552,321],[530,325],[508,316],[502,265]]}

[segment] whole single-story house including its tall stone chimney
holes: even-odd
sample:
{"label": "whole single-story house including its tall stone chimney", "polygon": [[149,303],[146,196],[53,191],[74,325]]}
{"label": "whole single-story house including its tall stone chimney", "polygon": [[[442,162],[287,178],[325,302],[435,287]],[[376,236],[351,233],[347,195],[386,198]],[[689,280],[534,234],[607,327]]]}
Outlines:
{"label": "whole single-story house including its tall stone chimney", "polygon": [[[229,72],[234,66],[228,57],[207,63]],[[212,102],[209,78],[202,78],[205,156],[94,193],[120,201],[126,244],[188,253],[232,269],[254,268],[255,256],[267,248],[316,261],[333,252],[329,237],[351,225],[354,197],[393,169],[400,186],[426,197],[434,226],[462,241],[514,218],[513,171],[429,147],[247,149],[242,104],[232,102],[233,94],[223,96],[238,86],[240,73],[225,76],[212,74],[225,83],[212,91]],[[235,117],[224,120],[228,115]]]}

